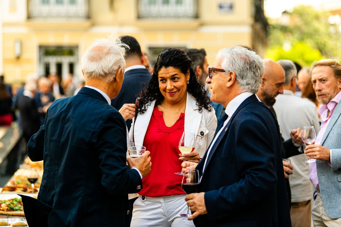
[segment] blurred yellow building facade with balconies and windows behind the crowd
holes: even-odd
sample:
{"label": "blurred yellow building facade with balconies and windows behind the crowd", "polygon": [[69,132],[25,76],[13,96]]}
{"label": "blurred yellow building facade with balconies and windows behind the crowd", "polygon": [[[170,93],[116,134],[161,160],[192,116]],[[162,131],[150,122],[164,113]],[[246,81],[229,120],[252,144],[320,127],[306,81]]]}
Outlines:
{"label": "blurred yellow building facade with balconies and windows behind the crowd", "polygon": [[[0,74],[82,78],[80,58],[94,39],[134,36],[152,60],[168,47],[205,48],[209,64],[236,45],[261,55],[263,0],[1,0]],[[263,19],[262,19],[263,18]]]}

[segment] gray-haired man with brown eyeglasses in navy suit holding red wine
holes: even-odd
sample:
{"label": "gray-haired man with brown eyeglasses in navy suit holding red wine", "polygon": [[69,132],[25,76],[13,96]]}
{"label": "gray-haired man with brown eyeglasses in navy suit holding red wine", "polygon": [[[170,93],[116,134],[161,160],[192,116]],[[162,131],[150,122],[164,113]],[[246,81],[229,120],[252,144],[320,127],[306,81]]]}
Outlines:
{"label": "gray-haired man with brown eyeglasses in navy suit holding red wine", "polygon": [[275,116],[258,101],[262,59],[243,47],[221,49],[206,82],[224,116],[199,164],[198,193],[186,196],[195,226],[291,226]]}

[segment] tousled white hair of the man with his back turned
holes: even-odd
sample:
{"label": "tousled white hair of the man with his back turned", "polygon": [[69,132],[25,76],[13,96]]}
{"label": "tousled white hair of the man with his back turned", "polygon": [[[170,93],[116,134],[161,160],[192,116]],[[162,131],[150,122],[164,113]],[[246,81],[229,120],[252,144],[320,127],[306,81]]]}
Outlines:
{"label": "tousled white hair of the man with his back turned", "polygon": [[121,43],[117,37],[110,36],[108,39],[95,40],[81,59],[85,79],[99,78],[104,82],[113,81],[119,68],[122,70],[125,68],[124,47],[127,45]]}

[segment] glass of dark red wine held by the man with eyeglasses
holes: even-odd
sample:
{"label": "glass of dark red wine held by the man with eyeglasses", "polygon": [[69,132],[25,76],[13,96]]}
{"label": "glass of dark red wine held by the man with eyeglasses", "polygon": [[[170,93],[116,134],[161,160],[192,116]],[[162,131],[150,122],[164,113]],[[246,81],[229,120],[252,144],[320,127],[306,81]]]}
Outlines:
{"label": "glass of dark red wine held by the man with eyeglasses", "polygon": [[[199,186],[199,171],[197,169],[186,169],[181,182],[182,190],[186,194],[196,193]],[[190,217],[190,208],[187,208],[187,214],[180,214],[181,217]]]}

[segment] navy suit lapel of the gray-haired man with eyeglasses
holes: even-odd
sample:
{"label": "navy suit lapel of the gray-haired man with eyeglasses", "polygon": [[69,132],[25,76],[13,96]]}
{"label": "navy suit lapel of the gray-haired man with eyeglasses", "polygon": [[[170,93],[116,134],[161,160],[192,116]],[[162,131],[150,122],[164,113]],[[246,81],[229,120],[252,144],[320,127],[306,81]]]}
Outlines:
{"label": "navy suit lapel of the gray-haired man with eyeglasses", "polygon": [[[214,152],[216,151],[218,145],[220,144],[221,140],[223,139],[223,137],[225,136],[225,134],[228,132],[229,127],[231,126],[231,123],[233,121],[233,119],[236,117],[236,115],[238,114],[238,112],[245,106],[247,106],[247,104],[249,104],[250,102],[254,102],[254,101],[258,101],[258,99],[256,98],[255,95],[251,95],[250,97],[248,97],[247,99],[245,99],[237,108],[237,110],[233,113],[233,115],[231,116],[231,118],[229,119],[229,121],[227,122],[227,124],[223,127],[223,130],[221,131],[221,133],[218,135],[217,140],[214,142],[214,144],[212,145],[211,151],[209,153],[209,155],[206,157],[207,158],[207,162],[206,162],[206,166],[205,169],[208,167],[209,162],[211,161],[212,156],[214,155]],[[207,153],[207,152],[206,152]],[[206,154],[205,154],[206,155]],[[205,173],[205,169],[203,170]]]}

